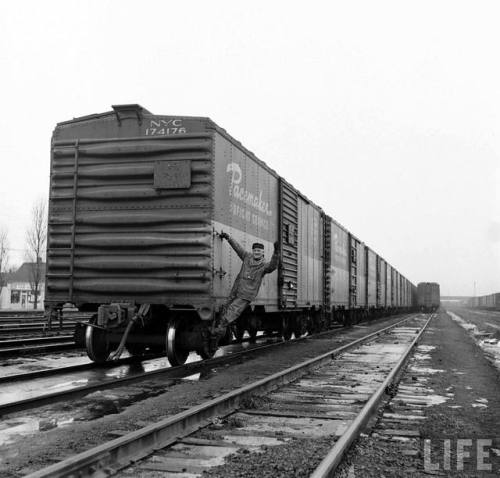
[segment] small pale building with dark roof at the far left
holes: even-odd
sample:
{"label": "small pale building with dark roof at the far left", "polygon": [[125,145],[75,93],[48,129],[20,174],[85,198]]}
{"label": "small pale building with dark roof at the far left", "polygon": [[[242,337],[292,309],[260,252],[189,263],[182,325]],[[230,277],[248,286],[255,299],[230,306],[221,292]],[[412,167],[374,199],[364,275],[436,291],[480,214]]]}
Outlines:
{"label": "small pale building with dark roof at the far left", "polygon": [[[31,277],[36,264],[25,262],[15,272],[4,274],[3,284],[0,288],[0,310],[33,310],[35,297],[31,290]],[[37,310],[43,310],[45,297],[45,263],[40,264],[41,282],[38,285]]]}

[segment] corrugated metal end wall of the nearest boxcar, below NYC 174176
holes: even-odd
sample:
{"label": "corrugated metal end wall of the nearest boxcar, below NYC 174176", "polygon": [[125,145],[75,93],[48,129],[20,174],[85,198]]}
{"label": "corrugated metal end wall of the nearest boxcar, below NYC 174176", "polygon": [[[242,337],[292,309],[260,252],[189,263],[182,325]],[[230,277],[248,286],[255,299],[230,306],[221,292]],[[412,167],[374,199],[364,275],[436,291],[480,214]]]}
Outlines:
{"label": "corrugated metal end wall of the nearest boxcar, below NYC 174176", "polygon": [[[55,142],[47,299],[203,301],[212,280],[211,150],[208,133]],[[159,178],[167,163],[174,177]],[[158,180],[190,185],[155,188]]]}

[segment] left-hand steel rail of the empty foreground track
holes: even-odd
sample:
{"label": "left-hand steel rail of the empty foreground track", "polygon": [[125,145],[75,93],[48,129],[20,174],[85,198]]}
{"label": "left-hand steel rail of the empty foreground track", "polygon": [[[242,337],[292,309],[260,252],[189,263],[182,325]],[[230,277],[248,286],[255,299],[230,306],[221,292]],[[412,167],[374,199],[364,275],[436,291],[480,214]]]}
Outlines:
{"label": "left-hand steel rail of the empty foreground track", "polygon": [[206,426],[214,416],[226,416],[239,408],[242,400],[256,392],[269,392],[285,385],[330,362],[337,355],[370,341],[391,329],[414,319],[412,314],[388,327],[365,335],[348,344],[294,365],[269,377],[240,387],[184,412],[165,418],[153,425],[140,428],[122,437],[103,443],[95,448],[67,458],[59,463],[38,470],[28,478],[56,477],[106,477],[137,460],[150,455]]}

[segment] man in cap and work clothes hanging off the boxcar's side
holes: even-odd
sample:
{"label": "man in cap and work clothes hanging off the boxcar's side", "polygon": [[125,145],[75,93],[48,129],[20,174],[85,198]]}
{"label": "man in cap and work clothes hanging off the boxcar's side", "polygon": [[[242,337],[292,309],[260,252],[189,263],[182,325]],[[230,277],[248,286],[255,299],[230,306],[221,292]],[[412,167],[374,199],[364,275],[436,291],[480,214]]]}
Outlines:
{"label": "man in cap and work clothes hanging off the boxcar's side", "polygon": [[241,270],[234,281],[231,293],[224,307],[220,321],[214,329],[214,337],[219,341],[226,333],[227,327],[234,322],[257,296],[265,274],[273,272],[280,260],[279,242],[274,243],[274,253],[269,262],[264,261],[264,245],[260,242],[252,244],[252,252],[247,252],[226,232],[220,233],[226,239],[238,257],[243,261]]}

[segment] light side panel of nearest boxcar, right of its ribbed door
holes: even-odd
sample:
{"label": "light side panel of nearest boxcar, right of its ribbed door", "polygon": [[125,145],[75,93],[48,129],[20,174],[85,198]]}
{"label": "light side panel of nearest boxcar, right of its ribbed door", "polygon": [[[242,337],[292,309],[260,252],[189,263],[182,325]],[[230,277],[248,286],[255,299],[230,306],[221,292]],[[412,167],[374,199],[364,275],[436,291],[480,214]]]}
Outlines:
{"label": "light side panel of nearest boxcar, right of its ribbed door", "polygon": [[298,202],[298,290],[299,307],[322,305],[323,225],[319,209],[299,197]]}

